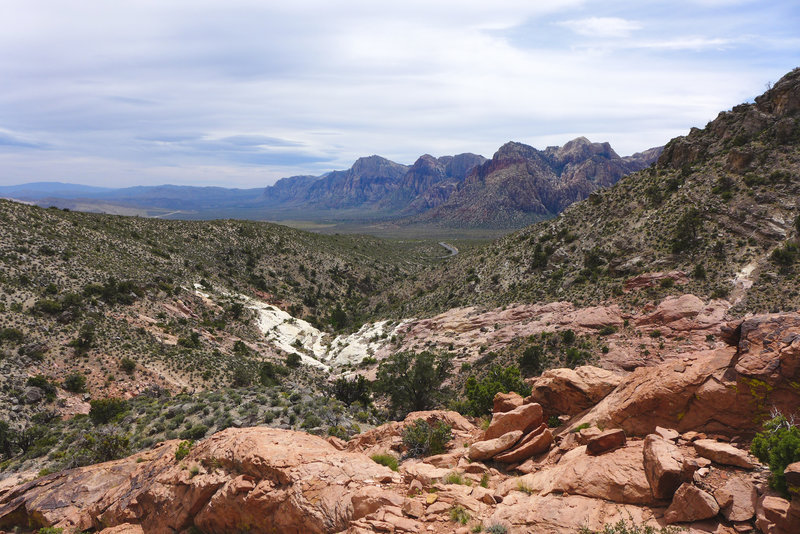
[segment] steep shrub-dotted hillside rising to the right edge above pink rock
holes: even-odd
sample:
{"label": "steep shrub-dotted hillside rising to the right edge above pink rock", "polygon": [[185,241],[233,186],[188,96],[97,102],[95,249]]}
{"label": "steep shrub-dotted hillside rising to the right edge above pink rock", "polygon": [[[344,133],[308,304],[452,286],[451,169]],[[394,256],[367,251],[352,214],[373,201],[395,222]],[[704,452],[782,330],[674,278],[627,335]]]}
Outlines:
{"label": "steep shrub-dotted hillside rising to the right edge above pink rock", "polygon": [[800,307],[799,111],[794,70],[670,141],[657,165],[429,273],[409,307],[637,304],[681,292],[728,298],[738,314]]}

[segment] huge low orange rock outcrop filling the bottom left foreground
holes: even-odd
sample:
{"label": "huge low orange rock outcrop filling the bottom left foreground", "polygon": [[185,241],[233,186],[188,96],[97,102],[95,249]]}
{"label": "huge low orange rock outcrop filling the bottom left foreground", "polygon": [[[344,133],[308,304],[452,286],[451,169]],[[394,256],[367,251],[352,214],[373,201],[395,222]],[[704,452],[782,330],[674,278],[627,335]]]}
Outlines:
{"label": "huge low orange rock outcrop filling the bottom left foreground", "polygon": [[0,528],[30,520],[79,530],[130,523],[154,534],[243,525],[254,533],[337,532],[353,519],[363,488],[399,481],[368,457],[302,432],[232,428],[180,462],[177,445],[18,487],[0,496]]}

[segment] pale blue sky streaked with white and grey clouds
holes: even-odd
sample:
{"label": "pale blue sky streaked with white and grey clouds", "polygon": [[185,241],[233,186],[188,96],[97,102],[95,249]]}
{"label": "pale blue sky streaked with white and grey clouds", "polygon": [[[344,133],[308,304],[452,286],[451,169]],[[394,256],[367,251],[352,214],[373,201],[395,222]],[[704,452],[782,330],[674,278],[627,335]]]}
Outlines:
{"label": "pale blue sky streaked with white and grey clouds", "polygon": [[800,66],[800,3],[3,0],[0,185],[262,187],[578,136],[628,155]]}

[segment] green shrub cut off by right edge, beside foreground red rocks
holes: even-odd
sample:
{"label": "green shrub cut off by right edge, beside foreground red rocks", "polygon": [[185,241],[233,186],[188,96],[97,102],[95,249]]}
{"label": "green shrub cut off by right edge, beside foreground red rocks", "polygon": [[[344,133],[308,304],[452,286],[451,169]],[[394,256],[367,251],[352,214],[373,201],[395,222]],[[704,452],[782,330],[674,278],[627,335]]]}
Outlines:
{"label": "green shrub cut off by right edge, beside foreground red rocks", "polygon": [[772,488],[786,497],[790,493],[800,496],[800,488],[786,487],[786,477],[783,474],[786,466],[800,462],[800,428],[793,418],[787,419],[777,411],[772,415],[772,419],[764,423],[764,430],[753,438],[750,450],[756,458],[769,466]]}

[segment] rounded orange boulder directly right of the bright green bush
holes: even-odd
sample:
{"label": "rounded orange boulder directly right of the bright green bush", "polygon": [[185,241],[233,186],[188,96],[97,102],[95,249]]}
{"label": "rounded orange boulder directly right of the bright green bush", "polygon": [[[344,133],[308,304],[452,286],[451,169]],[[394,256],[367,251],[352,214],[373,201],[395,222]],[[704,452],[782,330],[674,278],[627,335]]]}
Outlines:
{"label": "rounded orange boulder directly right of the bright green bush", "polygon": [[531,394],[525,402],[539,403],[551,415],[576,415],[603,400],[621,381],[621,375],[590,365],[549,369],[527,380]]}

